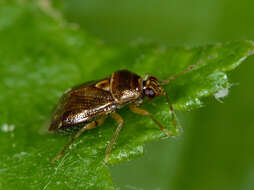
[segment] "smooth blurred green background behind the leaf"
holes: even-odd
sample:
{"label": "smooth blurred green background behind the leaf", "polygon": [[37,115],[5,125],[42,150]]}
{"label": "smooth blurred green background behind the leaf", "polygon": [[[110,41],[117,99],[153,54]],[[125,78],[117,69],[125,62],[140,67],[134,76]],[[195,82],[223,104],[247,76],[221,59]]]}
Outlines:
{"label": "smooth blurred green background behind the leaf", "polygon": [[[254,40],[253,0],[55,0],[64,16],[105,43],[199,45]],[[121,190],[254,189],[254,57],[230,73],[219,103],[177,113],[184,132],[146,146],[145,155],[111,166]]]}

